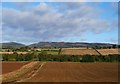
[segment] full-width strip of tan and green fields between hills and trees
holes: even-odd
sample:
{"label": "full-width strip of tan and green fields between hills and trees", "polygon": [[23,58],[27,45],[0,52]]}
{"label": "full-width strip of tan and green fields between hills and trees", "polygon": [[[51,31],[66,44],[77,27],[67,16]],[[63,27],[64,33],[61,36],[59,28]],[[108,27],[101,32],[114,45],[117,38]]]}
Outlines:
{"label": "full-width strip of tan and green fields between hills and trees", "polygon": [[[92,49],[92,48],[57,48],[57,49],[41,49],[41,51],[31,51],[31,52],[17,52],[18,54],[27,54],[27,53],[41,53],[46,52],[47,54],[58,55],[109,55],[109,54],[119,54],[119,48],[111,49]],[[13,54],[14,52],[0,52],[0,54]]]}

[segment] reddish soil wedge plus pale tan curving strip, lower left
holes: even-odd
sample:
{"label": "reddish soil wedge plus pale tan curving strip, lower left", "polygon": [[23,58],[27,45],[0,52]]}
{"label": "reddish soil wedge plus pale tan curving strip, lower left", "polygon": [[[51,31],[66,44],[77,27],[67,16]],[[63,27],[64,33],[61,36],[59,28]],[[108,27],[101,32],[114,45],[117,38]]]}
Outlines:
{"label": "reddish soil wedge plus pale tan curving strip, lower left", "polygon": [[[10,66],[10,65],[14,66]],[[17,67],[18,66],[18,67]],[[31,73],[36,69],[35,67],[38,66],[37,62],[6,62],[5,64],[3,63],[3,68],[2,68],[2,81],[3,82],[9,82],[12,80],[16,80],[19,77],[25,76],[27,73]],[[12,67],[12,70],[10,69]],[[8,69],[7,71],[3,71],[5,69]],[[10,71],[11,70],[11,71]],[[1,77],[1,75],[0,75]]]}

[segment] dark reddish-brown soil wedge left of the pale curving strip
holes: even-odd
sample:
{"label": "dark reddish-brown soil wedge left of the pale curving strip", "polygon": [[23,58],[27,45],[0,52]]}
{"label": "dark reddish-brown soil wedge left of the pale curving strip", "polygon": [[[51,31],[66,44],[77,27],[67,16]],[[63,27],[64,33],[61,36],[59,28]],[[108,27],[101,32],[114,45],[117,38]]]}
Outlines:
{"label": "dark reddish-brown soil wedge left of the pale curving strip", "polygon": [[13,72],[20,69],[25,64],[29,62],[2,62],[2,74]]}

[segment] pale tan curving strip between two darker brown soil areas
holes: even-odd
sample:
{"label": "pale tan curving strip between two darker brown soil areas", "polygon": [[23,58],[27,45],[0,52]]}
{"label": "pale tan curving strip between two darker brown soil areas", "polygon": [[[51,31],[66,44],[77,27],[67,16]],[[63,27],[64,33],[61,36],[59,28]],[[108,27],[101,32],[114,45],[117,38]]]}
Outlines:
{"label": "pale tan curving strip between two darker brown soil areas", "polygon": [[[7,74],[3,74],[2,81],[3,82],[12,82],[12,81],[19,81],[19,80],[21,80],[21,78],[22,78],[22,80],[26,79],[31,76],[29,74],[32,74],[31,72],[33,72],[36,69],[36,67],[37,67],[36,65],[38,65],[38,64],[40,64],[40,63],[39,62],[30,62],[28,64],[25,64],[18,70],[14,70]],[[26,77],[26,74],[27,74],[27,77]]]}

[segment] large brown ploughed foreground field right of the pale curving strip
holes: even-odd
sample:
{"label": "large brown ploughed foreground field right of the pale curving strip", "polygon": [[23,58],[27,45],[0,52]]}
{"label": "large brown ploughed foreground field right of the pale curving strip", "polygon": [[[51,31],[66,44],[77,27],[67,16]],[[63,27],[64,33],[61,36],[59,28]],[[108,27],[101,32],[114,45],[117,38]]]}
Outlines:
{"label": "large brown ploughed foreground field right of the pale curving strip", "polygon": [[[8,63],[9,64],[9,63]],[[16,63],[17,64],[17,63]],[[38,62],[34,73],[14,82],[117,82],[117,63]],[[6,66],[6,65],[4,65]],[[29,75],[26,76],[26,75]],[[12,74],[13,75],[13,74]],[[26,78],[25,78],[26,77]],[[13,81],[13,80],[12,80]],[[12,83],[11,83],[12,84]]]}

